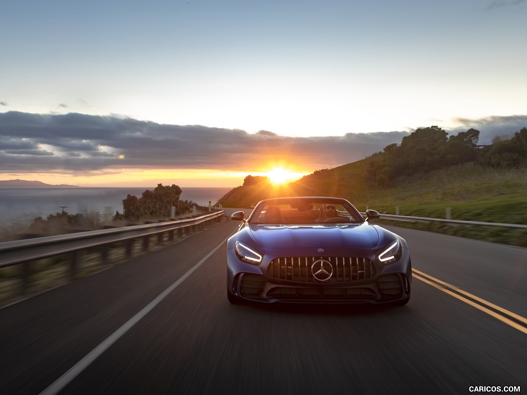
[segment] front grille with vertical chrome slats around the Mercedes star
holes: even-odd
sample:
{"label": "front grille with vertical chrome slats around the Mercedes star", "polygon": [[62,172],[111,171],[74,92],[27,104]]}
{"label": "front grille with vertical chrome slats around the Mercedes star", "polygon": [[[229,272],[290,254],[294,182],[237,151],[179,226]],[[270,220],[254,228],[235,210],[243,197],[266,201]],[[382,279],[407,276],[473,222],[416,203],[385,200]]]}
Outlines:
{"label": "front grille with vertical chrome slats around the Mercedes star", "polygon": [[311,266],[324,260],[331,264],[333,274],[324,283],[366,280],[375,276],[375,266],[367,258],[351,256],[295,256],[275,258],[267,268],[267,275],[276,280],[320,283],[311,273]]}

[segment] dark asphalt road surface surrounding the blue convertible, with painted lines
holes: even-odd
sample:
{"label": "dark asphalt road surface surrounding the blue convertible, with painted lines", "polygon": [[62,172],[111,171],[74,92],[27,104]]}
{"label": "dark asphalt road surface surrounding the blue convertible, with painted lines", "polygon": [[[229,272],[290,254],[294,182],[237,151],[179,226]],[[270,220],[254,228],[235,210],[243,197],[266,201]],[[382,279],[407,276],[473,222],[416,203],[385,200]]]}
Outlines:
{"label": "dark asphalt road surface surrounding the blue convertible, with painted lines", "polygon": [[527,393],[527,249],[390,228],[404,307],[231,305],[237,225],[0,310],[0,393]]}

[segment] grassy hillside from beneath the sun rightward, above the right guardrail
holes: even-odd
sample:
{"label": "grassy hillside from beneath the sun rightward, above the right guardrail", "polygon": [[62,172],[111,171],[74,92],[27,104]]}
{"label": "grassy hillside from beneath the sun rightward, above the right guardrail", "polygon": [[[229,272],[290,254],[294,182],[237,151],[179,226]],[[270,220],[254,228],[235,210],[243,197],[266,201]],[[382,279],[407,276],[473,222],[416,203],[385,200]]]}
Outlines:
{"label": "grassy hillside from beneath the sun rightward, above the right guardrail", "polygon": [[248,208],[278,196],[345,197],[357,209],[452,219],[527,224],[527,170],[492,169],[473,163],[414,175],[387,189],[365,180],[370,159],[317,171],[287,185],[239,186],[219,201],[225,207]]}

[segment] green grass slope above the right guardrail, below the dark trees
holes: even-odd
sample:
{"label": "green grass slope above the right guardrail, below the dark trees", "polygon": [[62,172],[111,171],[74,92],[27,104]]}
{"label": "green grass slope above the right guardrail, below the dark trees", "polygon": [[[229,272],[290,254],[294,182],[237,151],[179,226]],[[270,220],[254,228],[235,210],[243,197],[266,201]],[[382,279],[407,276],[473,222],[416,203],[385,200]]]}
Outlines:
{"label": "green grass slope above the right guardrail, below the dark trees", "polygon": [[[497,171],[479,166],[451,168],[400,180],[391,189],[372,188],[352,202],[379,212],[465,221],[527,224],[527,169]],[[348,199],[353,197],[348,193]]]}

